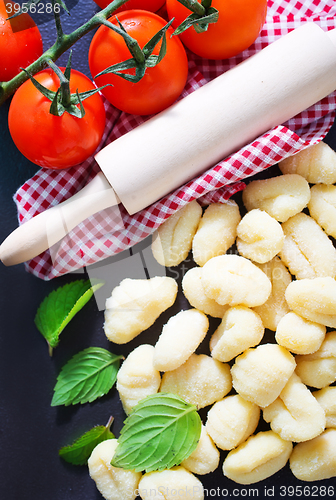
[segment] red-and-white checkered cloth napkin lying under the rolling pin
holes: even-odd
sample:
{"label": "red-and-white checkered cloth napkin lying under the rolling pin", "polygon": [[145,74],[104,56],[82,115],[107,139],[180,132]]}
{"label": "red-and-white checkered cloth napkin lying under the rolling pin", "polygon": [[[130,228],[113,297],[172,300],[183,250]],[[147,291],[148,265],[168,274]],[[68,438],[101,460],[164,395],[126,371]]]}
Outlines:
{"label": "red-and-white checkered cloth napkin lying under the rolling pin", "polygon": [[[183,96],[235,66],[306,21],[325,31],[336,27],[335,0],[269,0],[266,23],[256,42],[237,57],[201,59],[190,52],[189,77]],[[183,98],[182,96],[182,98]],[[27,271],[48,280],[99,262],[140,242],[186,203],[223,202],[244,188],[243,179],[323,139],[334,120],[336,93],[265,133],[198,178],[130,216],[111,207],[79,224],[60,244],[25,264]],[[106,104],[107,127],[100,148],[141,124],[145,118],[120,113]],[[69,170],[39,170],[14,195],[19,223],[69,198],[99,171],[93,158]]]}

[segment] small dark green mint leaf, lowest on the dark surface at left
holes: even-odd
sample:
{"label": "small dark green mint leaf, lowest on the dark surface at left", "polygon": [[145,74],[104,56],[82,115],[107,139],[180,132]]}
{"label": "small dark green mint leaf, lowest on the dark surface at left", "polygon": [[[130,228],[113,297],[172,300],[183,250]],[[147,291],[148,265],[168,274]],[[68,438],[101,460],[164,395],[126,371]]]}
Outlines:
{"label": "small dark green mint leaf, lowest on the dark surface at left", "polygon": [[69,446],[63,446],[58,452],[59,456],[73,465],[84,465],[87,463],[93,449],[106,439],[113,439],[111,432],[113,418],[106,425],[98,425],[80,436]]}

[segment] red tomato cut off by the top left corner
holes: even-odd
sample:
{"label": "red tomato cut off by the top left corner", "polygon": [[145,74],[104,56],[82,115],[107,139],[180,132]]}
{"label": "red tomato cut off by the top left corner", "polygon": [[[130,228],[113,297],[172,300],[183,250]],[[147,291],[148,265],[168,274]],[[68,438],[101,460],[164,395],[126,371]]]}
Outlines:
{"label": "red tomato cut off by the top left corner", "polygon": [[[15,14],[11,0],[0,0],[0,81],[7,82],[43,53],[41,34],[29,14]],[[6,10],[7,9],[7,10]]]}

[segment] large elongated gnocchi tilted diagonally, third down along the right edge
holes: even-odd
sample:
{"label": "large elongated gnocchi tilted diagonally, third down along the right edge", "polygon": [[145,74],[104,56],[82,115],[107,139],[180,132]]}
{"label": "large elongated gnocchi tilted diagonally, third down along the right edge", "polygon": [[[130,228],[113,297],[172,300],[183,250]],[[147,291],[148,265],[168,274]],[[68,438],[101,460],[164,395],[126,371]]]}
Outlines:
{"label": "large elongated gnocchi tilted diagonally, third down along the right edge", "polygon": [[336,275],[336,248],[309,215],[300,213],[282,224],[285,241],[279,256],[297,279]]}

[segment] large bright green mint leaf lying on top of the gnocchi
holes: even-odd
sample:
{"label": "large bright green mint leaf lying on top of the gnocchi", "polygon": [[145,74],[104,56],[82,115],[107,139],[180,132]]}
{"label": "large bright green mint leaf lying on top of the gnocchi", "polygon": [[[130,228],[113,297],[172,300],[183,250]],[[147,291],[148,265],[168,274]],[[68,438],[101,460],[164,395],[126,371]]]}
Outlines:
{"label": "large bright green mint leaf lying on top of the gnocchi", "polygon": [[141,400],[124,424],[111,465],[136,472],[179,465],[194,451],[201,434],[196,407],[168,393]]}

